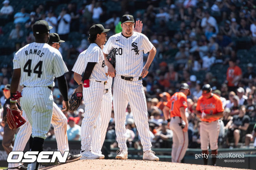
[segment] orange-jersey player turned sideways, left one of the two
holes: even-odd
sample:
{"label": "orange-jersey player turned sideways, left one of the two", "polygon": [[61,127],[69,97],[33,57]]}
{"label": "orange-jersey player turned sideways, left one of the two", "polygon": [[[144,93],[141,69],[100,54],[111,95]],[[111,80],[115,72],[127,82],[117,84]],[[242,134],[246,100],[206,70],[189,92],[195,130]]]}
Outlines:
{"label": "orange-jersey player turned sideways, left one of the two", "polygon": [[180,91],[174,93],[163,108],[165,120],[168,121],[170,129],[173,131],[172,162],[177,163],[183,159],[188,146],[188,122],[185,115],[187,95],[190,95],[189,86],[187,83],[183,83],[180,86]]}

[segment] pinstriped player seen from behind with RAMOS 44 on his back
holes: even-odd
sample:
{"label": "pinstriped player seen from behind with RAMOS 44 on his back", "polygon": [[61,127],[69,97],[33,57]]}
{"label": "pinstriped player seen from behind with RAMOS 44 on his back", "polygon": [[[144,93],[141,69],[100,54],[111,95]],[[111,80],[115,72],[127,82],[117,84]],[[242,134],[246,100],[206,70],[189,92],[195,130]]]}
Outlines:
{"label": "pinstriped player seen from behind with RAMOS 44 on his back", "polygon": [[[44,20],[35,22],[33,34],[35,42],[21,48],[13,59],[13,77],[11,80],[11,98],[19,86],[23,86],[20,104],[26,116],[32,124],[32,148],[31,151],[43,151],[46,133],[50,128],[53,110],[52,87],[54,76],[58,80],[59,90],[63,95],[63,105],[67,111],[69,108],[67,96],[67,81],[64,73],[68,71],[61,53],[46,44],[49,40],[50,28]],[[15,102],[10,109],[17,108]],[[30,164],[32,170],[37,169],[39,163]],[[22,169],[18,166],[9,169]]]}

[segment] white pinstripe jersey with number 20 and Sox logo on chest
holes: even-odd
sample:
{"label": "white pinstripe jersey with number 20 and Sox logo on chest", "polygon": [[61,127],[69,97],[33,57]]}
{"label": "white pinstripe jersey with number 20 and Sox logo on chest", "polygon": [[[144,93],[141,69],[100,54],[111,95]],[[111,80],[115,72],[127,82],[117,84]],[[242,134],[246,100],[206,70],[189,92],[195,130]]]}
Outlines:
{"label": "white pinstripe jersey with number 20 and Sox logo on chest", "polygon": [[126,38],[118,33],[109,37],[103,52],[108,54],[115,48],[117,75],[139,77],[143,69],[143,51],[148,53],[153,47],[144,34],[133,32]]}

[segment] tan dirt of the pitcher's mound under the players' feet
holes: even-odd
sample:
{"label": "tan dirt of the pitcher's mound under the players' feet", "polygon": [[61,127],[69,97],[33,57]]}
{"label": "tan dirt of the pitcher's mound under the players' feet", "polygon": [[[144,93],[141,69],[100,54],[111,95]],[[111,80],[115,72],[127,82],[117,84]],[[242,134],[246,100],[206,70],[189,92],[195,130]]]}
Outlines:
{"label": "tan dirt of the pitcher's mound under the players' feet", "polygon": [[40,170],[241,170],[209,165],[171,163],[144,160],[95,159],[79,160],[63,165],[46,167]]}

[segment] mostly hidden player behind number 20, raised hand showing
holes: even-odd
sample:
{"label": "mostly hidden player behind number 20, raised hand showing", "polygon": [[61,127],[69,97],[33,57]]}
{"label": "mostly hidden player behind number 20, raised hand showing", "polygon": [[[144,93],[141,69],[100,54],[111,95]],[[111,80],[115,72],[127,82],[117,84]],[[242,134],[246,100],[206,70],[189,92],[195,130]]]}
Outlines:
{"label": "mostly hidden player behind number 20, raised hand showing", "polygon": [[[135,32],[141,33],[143,24],[140,20],[136,21],[136,26],[134,28]],[[105,44],[105,42],[104,42]],[[101,48],[104,48],[104,44]],[[108,66],[105,66],[108,68]],[[103,146],[106,132],[108,128],[108,124],[111,117],[111,108],[112,108],[112,93],[111,93],[111,86],[112,86],[112,77],[108,76],[108,83],[104,89],[104,95],[102,99],[102,105],[100,110],[100,117],[98,117],[94,127],[93,127],[93,139],[92,139],[92,151],[97,153],[100,159],[104,159],[104,155],[102,155],[101,148]],[[100,140],[98,139],[100,136]]]}

